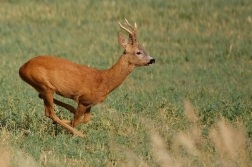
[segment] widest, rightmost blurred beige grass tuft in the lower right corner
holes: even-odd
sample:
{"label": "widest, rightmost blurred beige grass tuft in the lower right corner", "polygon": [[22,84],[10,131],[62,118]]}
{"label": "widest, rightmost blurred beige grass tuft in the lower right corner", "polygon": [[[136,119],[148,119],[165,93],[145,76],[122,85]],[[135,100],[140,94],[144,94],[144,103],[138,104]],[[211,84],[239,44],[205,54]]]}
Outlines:
{"label": "widest, rightmost blurred beige grass tuft in the lower right corner", "polygon": [[247,136],[242,123],[234,128],[225,119],[217,122],[217,127],[210,131],[210,138],[216,150],[216,163],[220,166],[249,166]]}

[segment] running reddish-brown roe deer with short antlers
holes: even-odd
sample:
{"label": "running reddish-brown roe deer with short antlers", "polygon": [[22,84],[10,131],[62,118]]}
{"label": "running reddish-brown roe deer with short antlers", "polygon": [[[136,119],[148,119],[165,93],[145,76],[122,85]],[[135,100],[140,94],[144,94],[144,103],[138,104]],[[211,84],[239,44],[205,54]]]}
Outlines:
{"label": "running reddish-brown roe deer with short antlers", "polygon": [[[127,40],[118,32],[118,43],[124,51],[109,69],[99,70],[48,55],[34,57],[19,69],[21,79],[37,90],[39,98],[43,99],[45,115],[74,135],[84,137],[83,133],[75,129],[77,125],[88,123],[91,107],[102,103],[135,67],[155,63],[155,59],[138,43],[136,23],[132,26],[125,19],[124,25],[127,28],[119,22],[118,24],[129,34],[129,38]],[[74,100],[77,108],[55,99],[55,93]],[[70,111],[74,115],[73,120],[59,119],[54,112],[54,104]]]}

